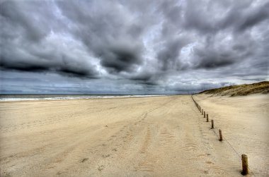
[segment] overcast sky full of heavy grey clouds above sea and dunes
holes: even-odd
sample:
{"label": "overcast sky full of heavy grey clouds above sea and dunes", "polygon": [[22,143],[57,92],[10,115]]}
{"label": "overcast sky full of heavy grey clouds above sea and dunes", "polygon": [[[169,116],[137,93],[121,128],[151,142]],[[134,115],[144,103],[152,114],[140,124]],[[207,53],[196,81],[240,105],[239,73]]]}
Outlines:
{"label": "overcast sky full of heavy grey clouds above sea and dunes", "polygon": [[268,0],[0,0],[0,93],[182,94],[269,80]]}

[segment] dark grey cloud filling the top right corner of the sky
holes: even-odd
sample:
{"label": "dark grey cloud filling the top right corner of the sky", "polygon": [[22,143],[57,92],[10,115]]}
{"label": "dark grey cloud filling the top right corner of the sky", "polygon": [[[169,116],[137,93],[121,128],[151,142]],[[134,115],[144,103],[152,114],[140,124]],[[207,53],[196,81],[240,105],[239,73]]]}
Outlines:
{"label": "dark grey cloud filling the top right corner of the sky", "polygon": [[258,23],[268,20],[269,2],[261,1],[188,1],[184,11],[183,27],[202,34],[230,28],[233,32],[243,32]]}

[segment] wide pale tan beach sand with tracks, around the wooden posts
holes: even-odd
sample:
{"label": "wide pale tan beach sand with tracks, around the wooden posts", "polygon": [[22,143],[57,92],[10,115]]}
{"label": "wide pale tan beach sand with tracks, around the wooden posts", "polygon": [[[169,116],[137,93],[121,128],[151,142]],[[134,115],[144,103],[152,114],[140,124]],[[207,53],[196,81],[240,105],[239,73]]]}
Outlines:
{"label": "wide pale tan beach sand with tracks, around the wooden posts", "polygon": [[194,98],[214,130],[190,95],[0,102],[1,176],[268,176],[268,95]]}

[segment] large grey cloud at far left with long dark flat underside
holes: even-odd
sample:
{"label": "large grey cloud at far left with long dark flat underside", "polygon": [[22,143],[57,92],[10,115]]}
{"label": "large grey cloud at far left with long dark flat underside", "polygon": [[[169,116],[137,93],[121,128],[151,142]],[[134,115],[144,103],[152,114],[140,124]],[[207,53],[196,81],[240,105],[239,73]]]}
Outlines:
{"label": "large grey cloud at far left with long dark flat underside", "polygon": [[4,25],[1,30],[1,68],[97,78],[95,68],[83,59],[76,59],[69,52],[55,50],[50,44],[45,44],[43,48],[42,42],[46,42],[45,37],[55,28],[55,24],[49,21],[57,23],[55,16],[46,7],[50,7],[47,1],[1,3],[1,23]]}

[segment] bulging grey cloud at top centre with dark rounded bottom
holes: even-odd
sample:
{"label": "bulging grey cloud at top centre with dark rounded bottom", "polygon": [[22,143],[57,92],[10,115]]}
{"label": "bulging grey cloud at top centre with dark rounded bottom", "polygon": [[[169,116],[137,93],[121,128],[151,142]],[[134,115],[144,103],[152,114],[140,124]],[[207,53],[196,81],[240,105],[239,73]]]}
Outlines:
{"label": "bulging grey cloud at top centre with dark rounded bottom", "polygon": [[123,14],[119,4],[110,2],[103,6],[96,1],[91,6],[85,1],[59,1],[58,4],[63,15],[79,26],[72,29],[73,35],[84,42],[109,73],[132,72],[142,63],[144,45],[139,39],[142,25],[138,19],[128,22],[129,19],[125,18],[128,14]]}

